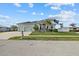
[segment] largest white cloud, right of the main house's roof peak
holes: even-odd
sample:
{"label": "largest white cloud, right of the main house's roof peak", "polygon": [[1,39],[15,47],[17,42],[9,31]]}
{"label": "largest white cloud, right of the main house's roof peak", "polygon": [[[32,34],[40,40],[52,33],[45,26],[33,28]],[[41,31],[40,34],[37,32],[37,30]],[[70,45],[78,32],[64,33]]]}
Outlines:
{"label": "largest white cloud, right of the main house's roof peak", "polygon": [[60,14],[54,15],[60,21],[74,22],[77,14],[73,11],[61,11]]}

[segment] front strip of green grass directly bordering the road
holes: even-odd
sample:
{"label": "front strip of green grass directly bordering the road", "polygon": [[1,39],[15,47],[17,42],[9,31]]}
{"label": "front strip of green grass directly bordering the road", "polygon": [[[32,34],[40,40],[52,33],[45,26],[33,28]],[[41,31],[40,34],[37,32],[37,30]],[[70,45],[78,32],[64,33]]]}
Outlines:
{"label": "front strip of green grass directly bordering the road", "polygon": [[34,36],[21,36],[11,37],[9,40],[52,40],[52,41],[79,41],[79,37],[34,37]]}

